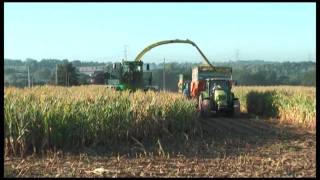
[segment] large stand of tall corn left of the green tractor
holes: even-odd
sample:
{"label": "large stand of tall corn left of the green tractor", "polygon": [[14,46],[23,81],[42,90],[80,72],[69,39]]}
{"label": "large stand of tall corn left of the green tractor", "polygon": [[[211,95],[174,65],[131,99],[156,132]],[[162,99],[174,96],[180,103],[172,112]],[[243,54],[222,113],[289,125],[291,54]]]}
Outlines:
{"label": "large stand of tall corn left of the green tractor", "polygon": [[187,132],[193,101],[180,94],[104,86],[5,88],[5,150],[79,148]]}

